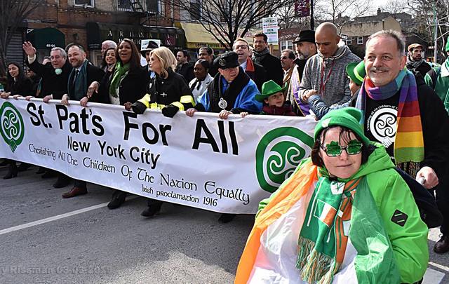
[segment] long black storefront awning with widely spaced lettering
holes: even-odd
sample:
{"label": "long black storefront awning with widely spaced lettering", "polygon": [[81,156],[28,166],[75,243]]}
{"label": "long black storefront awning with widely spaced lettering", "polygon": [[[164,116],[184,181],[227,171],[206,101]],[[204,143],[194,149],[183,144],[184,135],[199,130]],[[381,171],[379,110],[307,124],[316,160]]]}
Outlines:
{"label": "long black storefront awning with widely spaced lettering", "polygon": [[140,49],[142,39],[160,39],[162,46],[182,49],[185,46],[184,32],[176,27],[142,27],[133,25],[117,25],[101,22],[88,22],[88,49],[101,49],[101,43],[107,39],[119,42],[132,39]]}

